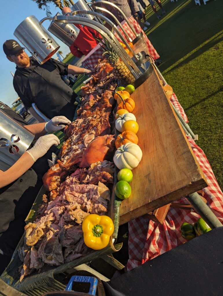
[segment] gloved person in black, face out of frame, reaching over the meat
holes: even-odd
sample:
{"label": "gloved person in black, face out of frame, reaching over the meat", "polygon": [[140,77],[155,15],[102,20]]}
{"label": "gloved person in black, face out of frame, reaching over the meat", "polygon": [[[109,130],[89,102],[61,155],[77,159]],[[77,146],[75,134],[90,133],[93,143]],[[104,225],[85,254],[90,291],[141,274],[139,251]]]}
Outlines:
{"label": "gloved person in black, face out of frame, reaching over the meat", "polygon": [[[27,217],[36,196],[43,185],[42,177],[49,169],[47,159],[60,143],[51,132],[70,124],[64,116],[57,116],[47,123],[27,125],[15,111],[0,102],[0,112],[6,113],[35,134],[34,145],[8,170],[1,170],[0,163],[0,275],[9,264],[12,254],[24,233]],[[16,132],[16,131],[15,131]],[[47,134],[46,133],[50,133]],[[51,148],[50,148],[51,147]]]}

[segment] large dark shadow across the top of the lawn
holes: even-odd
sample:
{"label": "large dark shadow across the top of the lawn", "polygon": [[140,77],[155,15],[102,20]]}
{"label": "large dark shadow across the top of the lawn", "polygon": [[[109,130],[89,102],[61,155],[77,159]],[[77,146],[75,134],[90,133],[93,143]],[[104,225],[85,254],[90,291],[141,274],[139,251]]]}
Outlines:
{"label": "large dark shadow across the top of the lawn", "polygon": [[[171,2],[165,4],[166,14],[160,22],[156,22],[146,32],[163,60],[163,64],[160,66],[161,71],[167,70],[208,39],[221,32],[222,3],[220,2],[223,1],[211,1],[208,3],[208,7],[207,5],[196,7],[194,1],[178,1],[174,7]],[[150,7],[150,9],[152,8]],[[155,17],[156,15],[151,17],[154,22]],[[201,54],[214,44],[214,40],[207,45],[205,44],[180,65]]]}

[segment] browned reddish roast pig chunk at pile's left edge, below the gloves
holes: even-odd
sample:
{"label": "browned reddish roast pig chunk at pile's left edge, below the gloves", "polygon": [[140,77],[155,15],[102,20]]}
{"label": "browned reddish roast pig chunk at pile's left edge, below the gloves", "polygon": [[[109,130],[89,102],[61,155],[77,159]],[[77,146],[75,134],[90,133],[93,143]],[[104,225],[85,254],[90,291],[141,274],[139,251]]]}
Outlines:
{"label": "browned reddish roast pig chunk at pile's left edge, below the gloves", "polygon": [[67,171],[62,170],[59,164],[53,165],[43,176],[43,184],[46,190],[57,189],[68,175]]}

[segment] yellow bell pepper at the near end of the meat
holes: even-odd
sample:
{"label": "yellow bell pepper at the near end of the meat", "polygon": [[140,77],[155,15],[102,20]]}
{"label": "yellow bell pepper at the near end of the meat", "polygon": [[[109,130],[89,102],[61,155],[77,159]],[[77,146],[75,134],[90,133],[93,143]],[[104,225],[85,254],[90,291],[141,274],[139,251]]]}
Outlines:
{"label": "yellow bell pepper at the near end of the meat", "polygon": [[110,236],[114,232],[114,224],[110,217],[90,214],[82,223],[84,242],[94,250],[107,247]]}

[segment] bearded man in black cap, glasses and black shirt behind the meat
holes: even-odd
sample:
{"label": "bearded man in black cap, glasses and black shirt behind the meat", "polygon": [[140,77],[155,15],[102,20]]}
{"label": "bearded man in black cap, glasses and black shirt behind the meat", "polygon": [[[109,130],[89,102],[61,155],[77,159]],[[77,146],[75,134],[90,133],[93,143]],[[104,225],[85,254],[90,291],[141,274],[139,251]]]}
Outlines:
{"label": "bearded man in black cap, glasses and black shirt behind the meat", "polygon": [[90,74],[91,71],[52,58],[40,65],[34,57],[28,57],[24,48],[13,39],[4,42],[3,50],[7,59],[16,64],[13,86],[26,110],[39,122],[44,120],[33,109],[33,103],[49,119],[64,115],[73,120],[77,95],[61,76]]}

